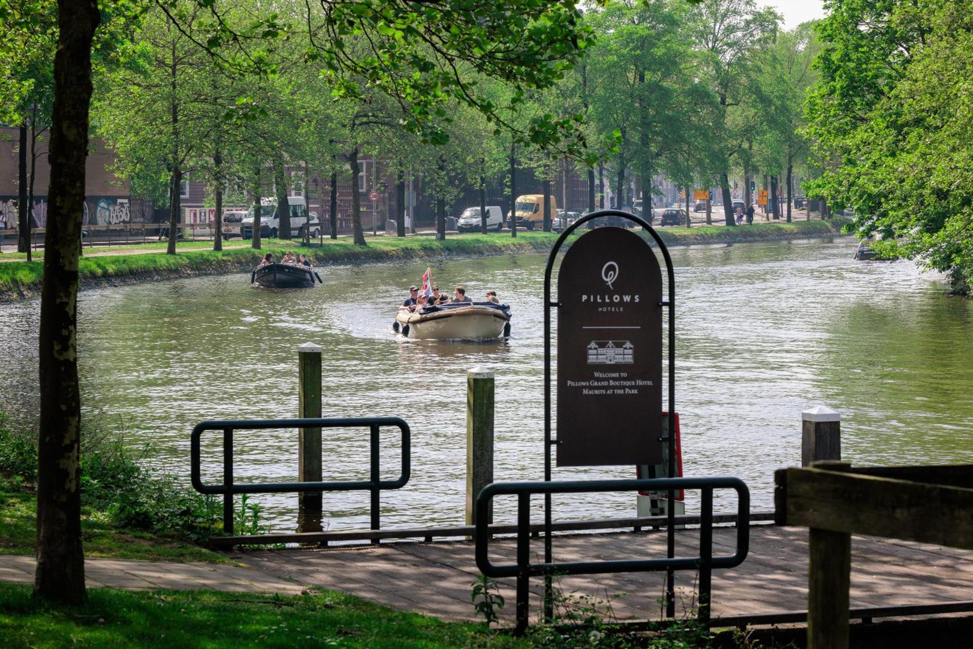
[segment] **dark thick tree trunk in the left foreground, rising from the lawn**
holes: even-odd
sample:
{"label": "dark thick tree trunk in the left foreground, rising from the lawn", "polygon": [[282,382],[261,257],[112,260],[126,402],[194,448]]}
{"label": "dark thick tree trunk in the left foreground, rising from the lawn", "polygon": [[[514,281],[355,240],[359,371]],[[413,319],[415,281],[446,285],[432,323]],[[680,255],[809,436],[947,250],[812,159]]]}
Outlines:
{"label": "dark thick tree trunk in the left foreground, rising from the lawn", "polygon": [[51,121],[51,185],[41,287],[40,434],[37,463],[37,571],[34,595],[83,603],[78,387],[78,242],[85,202],[96,2],[58,0]]}

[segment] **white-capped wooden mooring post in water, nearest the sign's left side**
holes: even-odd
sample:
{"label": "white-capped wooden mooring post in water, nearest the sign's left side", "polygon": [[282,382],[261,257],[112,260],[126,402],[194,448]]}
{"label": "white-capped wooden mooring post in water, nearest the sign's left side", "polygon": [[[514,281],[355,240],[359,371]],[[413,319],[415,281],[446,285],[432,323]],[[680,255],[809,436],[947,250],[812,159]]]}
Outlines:
{"label": "white-capped wooden mooring post in water, nearest the sign's left side", "polygon": [[[493,482],[493,370],[466,374],[466,525],[474,525],[477,495]],[[493,522],[493,506],[489,520]]]}

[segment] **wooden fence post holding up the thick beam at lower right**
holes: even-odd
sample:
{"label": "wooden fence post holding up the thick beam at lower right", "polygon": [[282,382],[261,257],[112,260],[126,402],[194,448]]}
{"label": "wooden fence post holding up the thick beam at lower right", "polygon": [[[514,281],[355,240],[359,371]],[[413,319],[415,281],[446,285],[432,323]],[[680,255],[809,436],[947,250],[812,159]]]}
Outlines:
{"label": "wooden fence post holding up the thick beam at lower right", "polygon": [[[845,471],[842,461],[814,461],[811,468]],[[808,559],[808,649],[847,649],[851,534],[811,528]]]}

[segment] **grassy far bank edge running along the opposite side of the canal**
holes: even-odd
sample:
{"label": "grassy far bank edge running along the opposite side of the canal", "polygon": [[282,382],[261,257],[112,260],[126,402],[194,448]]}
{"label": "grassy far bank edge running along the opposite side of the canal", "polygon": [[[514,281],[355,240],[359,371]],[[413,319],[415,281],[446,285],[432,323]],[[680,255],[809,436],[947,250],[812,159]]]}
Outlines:
{"label": "grassy far bank edge running along the opposite side of the canal", "polygon": [[[667,246],[692,246],[720,243],[755,243],[829,237],[842,234],[847,219],[802,221],[792,223],[755,223],[737,227],[697,226],[693,228],[659,228]],[[445,241],[432,237],[410,236],[370,239],[367,247],[355,246],[350,239],[325,240],[321,246],[269,246],[260,251],[235,248],[221,252],[192,251],[178,255],[137,254],[84,256],[79,261],[82,290],[161,282],[199,275],[224,275],[251,270],[261,256],[284,251],[303,252],[315,266],[356,263],[380,263],[416,258],[449,258],[464,256],[497,256],[546,253],[558,234],[521,231],[517,238],[509,232],[494,234],[453,235]],[[570,242],[568,242],[569,245]],[[13,302],[38,297],[41,291],[43,263],[9,261],[0,263],[0,302]]]}

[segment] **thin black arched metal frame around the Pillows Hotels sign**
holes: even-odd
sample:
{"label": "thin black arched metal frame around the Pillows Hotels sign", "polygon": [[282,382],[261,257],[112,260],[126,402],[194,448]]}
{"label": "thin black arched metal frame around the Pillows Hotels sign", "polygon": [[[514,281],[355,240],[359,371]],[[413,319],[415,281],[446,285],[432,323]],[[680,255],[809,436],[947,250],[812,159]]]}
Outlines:
{"label": "thin black arched metal frame around the Pillows Hotels sign", "polygon": [[[672,267],[672,257],[669,256],[666,243],[656,232],[655,228],[652,227],[650,222],[645,221],[641,217],[637,217],[628,212],[623,212],[621,210],[599,210],[591,214],[585,215],[578,219],[576,222],[571,223],[568,227],[560,233],[558,241],[555,242],[554,248],[551,250],[548,256],[547,266],[544,269],[544,480],[546,482],[551,481],[551,449],[558,445],[558,440],[552,438],[551,433],[551,309],[557,309],[560,307],[559,301],[553,301],[551,299],[551,279],[554,274],[554,263],[558,256],[558,253],[566,241],[567,237],[571,235],[574,230],[578,229],[579,226],[586,222],[593,221],[602,217],[620,217],[630,222],[634,222],[637,225],[641,225],[645,230],[652,236],[652,239],[659,246],[659,250],[662,252],[663,259],[666,261],[666,273],[668,280],[668,290],[663,294],[663,300],[660,306],[668,308],[668,376],[667,376],[667,396],[668,396],[668,412],[674,413],[675,409],[675,272]],[[584,235],[582,235],[584,236]],[[560,299],[560,295],[558,296]],[[669,476],[675,475],[675,461],[676,454],[674,449],[671,448],[674,440],[674,434],[670,432],[666,437],[660,437],[660,442],[665,442],[670,445],[668,453],[668,474]],[[675,499],[675,490],[669,490],[668,493],[669,502],[673,502]],[[552,544],[551,544],[551,494],[544,495],[544,561],[550,564],[553,561],[552,558]],[[675,557],[675,507],[668,507],[667,510],[667,556],[669,559]],[[666,571],[666,616],[669,618],[675,617],[675,584],[673,583],[674,570],[668,568]],[[553,583],[550,575],[544,578],[544,616],[546,619],[550,620],[554,617],[554,598],[553,598]]]}

